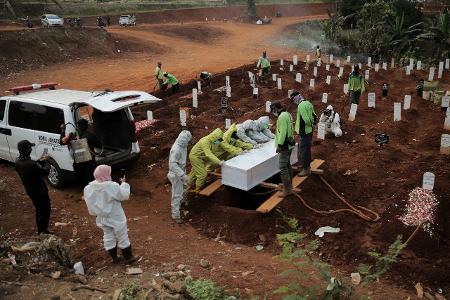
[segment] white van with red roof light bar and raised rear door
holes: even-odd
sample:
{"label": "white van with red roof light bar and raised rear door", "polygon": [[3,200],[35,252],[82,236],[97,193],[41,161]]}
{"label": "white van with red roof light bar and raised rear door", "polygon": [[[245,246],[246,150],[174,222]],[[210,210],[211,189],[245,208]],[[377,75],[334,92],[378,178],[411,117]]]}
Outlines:
{"label": "white van with red roof light bar and raised rear door", "polygon": [[95,156],[97,164],[114,166],[138,158],[129,107],[161,99],[140,91],[83,92],[56,90],[56,85],[20,86],[10,89],[15,95],[0,97],[0,159],[15,161],[17,143],[29,140],[36,144],[32,159],[45,152],[50,156],[50,185],[63,187],[67,179],[74,178],[75,161],[72,147],[60,144],[61,125],[66,124],[65,135],[75,133],[81,118],[89,121],[90,131],[102,141],[103,149]]}

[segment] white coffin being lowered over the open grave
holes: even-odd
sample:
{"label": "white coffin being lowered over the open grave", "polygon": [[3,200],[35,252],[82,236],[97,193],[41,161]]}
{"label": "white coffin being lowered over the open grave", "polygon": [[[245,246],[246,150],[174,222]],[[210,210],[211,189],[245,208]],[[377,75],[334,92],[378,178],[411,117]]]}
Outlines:
{"label": "white coffin being lowered over the open grave", "polygon": [[[222,165],[222,184],[244,191],[257,186],[280,171],[275,142],[227,160]],[[291,164],[297,162],[297,146],[291,154]]]}

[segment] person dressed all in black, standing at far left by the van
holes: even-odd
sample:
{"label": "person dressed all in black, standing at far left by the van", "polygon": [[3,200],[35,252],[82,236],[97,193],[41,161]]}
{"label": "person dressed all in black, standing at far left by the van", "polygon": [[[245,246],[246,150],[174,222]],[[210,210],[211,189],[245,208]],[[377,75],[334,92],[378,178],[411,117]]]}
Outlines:
{"label": "person dressed all in black, standing at far left by the van", "polygon": [[36,210],[38,234],[49,234],[50,198],[48,188],[41,176],[48,175],[50,164],[45,154],[37,161],[31,159],[30,155],[34,146],[35,144],[28,140],[22,140],[17,144],[19,157],[16,159],[15,169]]}

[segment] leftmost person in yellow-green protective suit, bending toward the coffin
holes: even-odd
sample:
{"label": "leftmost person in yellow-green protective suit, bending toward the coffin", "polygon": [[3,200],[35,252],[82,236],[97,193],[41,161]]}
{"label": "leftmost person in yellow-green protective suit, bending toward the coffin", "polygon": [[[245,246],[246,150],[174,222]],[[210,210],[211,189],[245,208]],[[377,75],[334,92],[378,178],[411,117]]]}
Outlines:
{"label": "leftmost person in yellow-green protective suit, bending toward the coffin", "polygon": [[222,138],[223,132],[217,128],[207,136],[201,138],[197,144],[192,147],[189,153],[189,161],[191,162],[191,172],[189,173],[188,183],[200,189],[208,176],[208,169],[211,165],[219,165],[220,159],[213,153],[214,142]]}

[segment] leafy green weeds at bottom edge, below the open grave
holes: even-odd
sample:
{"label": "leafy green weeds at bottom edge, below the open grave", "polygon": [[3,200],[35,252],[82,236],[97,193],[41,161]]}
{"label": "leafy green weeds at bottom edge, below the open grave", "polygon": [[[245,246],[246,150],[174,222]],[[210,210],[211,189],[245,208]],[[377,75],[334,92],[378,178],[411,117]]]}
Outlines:
{"label": "leafy green weeds at bottom edge, below the open grave", "polygon": [[[298,232],[298,220],[283,215],[281,211],[279,213],[292,230],[277,234],[281,253],[276,256],[277,259],[290,265],[289,269],[280,274],[282,277],[288,278],[290,283],[280,286],[274,293],[285,294],[283,300],[347,299],[352,294],[353,289],[332,275],[329,264],[314,256],[314,252],[320,246],[319,240],[305,241],[306,234]],[[323,284],[311,283],[317,281],[317,278],[312,275],[315,273],[320,274]],[[307,286],[303,286],[302,282],[306,282]]]}

